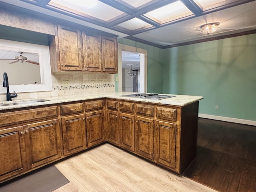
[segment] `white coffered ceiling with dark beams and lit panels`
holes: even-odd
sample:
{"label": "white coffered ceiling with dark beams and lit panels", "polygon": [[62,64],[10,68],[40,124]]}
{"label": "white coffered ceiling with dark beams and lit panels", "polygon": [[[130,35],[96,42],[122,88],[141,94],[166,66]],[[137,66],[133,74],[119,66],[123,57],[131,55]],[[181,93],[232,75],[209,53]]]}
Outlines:
{"label": "white coffered ceiling with dark beams and lit panels", "polygon": [[[96,0],[91,8],[85,8],[85,2],[1,0],[0,5],[12,4],[161,48],[256,32],[255,0]],[[156,13],[165,7],[167,11]],[[217,32],[200,34],[200,26],[211,22],[220,23]]]}

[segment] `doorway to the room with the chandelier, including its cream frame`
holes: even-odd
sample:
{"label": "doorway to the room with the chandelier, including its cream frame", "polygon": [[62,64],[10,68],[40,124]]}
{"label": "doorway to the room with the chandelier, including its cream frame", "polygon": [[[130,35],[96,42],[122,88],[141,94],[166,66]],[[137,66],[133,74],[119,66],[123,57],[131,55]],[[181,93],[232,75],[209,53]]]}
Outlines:
{"label": "doorway to the room with the chandelier, including its cream frame", "polygon": [[[146,68],[147,50],[118,44],[118,91],[146,92]],[[131,69],[136,72],[136,78],[128,77],[128,70]],[[136,85],[138,89],[134,89]]]}

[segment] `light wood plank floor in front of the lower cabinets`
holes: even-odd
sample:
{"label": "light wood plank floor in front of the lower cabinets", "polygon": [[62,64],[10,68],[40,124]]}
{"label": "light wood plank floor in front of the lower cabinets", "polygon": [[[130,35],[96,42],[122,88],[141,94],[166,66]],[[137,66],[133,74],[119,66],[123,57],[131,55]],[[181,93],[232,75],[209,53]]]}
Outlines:
{"label": "light wood plank floor in front of the lower cabinets", "polygon": [[54,192],[216,192],[110,144],[55,166],[70,182]]}

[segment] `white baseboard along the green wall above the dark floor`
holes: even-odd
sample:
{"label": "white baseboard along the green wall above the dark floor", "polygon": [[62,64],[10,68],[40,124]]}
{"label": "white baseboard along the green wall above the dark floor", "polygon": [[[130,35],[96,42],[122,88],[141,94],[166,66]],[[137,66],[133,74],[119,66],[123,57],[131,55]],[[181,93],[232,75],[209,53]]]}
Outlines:
{"label": "white baseboard along the green wall above the dark floor", "polygon": [[222,117],[222,116],[207,115],[207,114],[198,114],[198,117],[256,126],[256,121],[252,121],[252,120],[236,119],[231,117]]}

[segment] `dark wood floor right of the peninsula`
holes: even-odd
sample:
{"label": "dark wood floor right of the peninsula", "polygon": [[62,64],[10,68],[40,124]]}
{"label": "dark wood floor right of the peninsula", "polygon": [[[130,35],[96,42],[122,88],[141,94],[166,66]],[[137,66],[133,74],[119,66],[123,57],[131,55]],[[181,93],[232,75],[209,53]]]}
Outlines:
{"label": "dark wood floor right of the peninsula", "polygon": [[256,127],[199,118],[196,160],[184,176],[221,192],[256,192]]}

